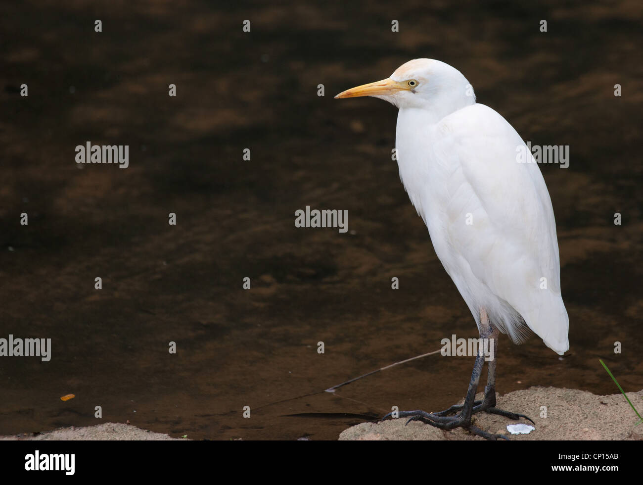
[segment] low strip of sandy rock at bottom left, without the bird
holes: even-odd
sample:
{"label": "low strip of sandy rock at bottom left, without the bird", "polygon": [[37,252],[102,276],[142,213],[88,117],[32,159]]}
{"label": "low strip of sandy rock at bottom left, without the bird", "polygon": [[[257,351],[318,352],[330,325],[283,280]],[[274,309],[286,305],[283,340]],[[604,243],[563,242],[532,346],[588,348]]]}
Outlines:
{"label": "low strip of sandy rock at bottom left, without the bird", "polygon": [[50,431],[48,433],[41,433],[37,435],[32,434],[19,434],[15,436],[0,436],[0,440],[33,440],[33,441],[99,441],[99,440],[176,440],[180,438],[173,438],[170,435],[162,433],[154,433],[152,431],[141,430],[136,426],[124,425],[123,423],[103,423],[96,426],[85,426],[77,428],[60,428],[59,430]]}

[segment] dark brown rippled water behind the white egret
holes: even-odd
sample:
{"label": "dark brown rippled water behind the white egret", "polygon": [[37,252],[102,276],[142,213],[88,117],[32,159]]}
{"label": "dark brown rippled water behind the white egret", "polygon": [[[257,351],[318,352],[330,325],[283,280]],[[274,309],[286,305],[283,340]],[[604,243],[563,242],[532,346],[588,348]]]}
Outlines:
{"label": "dark brown rippled water behind the white egret", "polygon": [[[129,419],[194,439],[336,439],[392,405],[462,398],[472,358],[320,392],[477,336],[390,160],[394,107],[332,99],[415,57],[460,69],[525,140],[570,145],[568,169],[541,170],[571,349],[503,338],[498,391],[613,394],[599,358],[643,387],[637,1],[60,4],[0,6],[0,337],[53,345],[47,363],[0,358],[0,434]],[[79,169],[87,140],[129,145],[130,167]],[[295,228],[306,205],[349,210],[351,232]]]}

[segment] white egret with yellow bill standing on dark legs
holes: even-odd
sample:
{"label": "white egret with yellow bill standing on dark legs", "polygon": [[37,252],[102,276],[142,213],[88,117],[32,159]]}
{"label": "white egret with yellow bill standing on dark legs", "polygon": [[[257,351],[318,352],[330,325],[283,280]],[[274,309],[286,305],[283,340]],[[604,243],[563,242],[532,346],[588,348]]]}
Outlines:
{"label": "white egret with yellow bill standing on dark legs", "polygon": [[471,424],[471,415],[480,411],[529,419],[496,408],[498,332],[522,343],[533,331],[558,354],[569,349],[554,210],[538,164],[500,114],[476,104],[462,73],[439,60],[410,60],[390,78],[335,97],[356,96],[374,96],[399,108],[395,148],[404,188],[480,338],[496,344],[482,401],[475,401],[485,361],[478,351],[464,405],[399,416],[505,438]]}

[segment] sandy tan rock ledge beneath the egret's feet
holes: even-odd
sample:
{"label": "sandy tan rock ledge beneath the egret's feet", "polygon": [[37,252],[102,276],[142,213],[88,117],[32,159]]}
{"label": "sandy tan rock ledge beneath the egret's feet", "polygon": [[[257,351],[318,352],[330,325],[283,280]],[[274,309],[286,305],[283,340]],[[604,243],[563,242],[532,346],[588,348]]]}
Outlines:
{"label": "sandy tan rock ledge beneath the egret's feet", "polygon": [[[628,398],[640,413],[643,408],[643,390],[628,392]],[[478,394],[477,399],[482,398]],[[511,435],[507,425],[518,423],[491,414],[476,414],[478,428],[508,435],[518,440],[643,440],[643,425],[635,426],[638,418],[622,394],[596,396],[591,392],[554,387],[531,387],[527,390],[498,395],[498,407],[520,412],[536,423],[536,430],[525,435]],[[540,407],[547,407],[547,417],[541,417]],[[483,439],[460,429],[442,431],[433,426],[413,421],[404,426],[406,419],[379,423],[361,423],[340,434],[340,440],[407,440],[407,439]],[[522,419],[520,423],[529,423]]]}

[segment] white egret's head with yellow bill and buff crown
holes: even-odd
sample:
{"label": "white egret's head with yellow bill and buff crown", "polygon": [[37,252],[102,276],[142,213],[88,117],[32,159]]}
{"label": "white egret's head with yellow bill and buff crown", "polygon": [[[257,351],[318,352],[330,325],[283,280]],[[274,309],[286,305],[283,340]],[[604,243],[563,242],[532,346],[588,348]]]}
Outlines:
{"label": "white egret's head with yellow bill and buff crown", "polygon": [[445,115],[476,102],[473,87],[449,64],[434,59],[413,59],[402,64],[390,78],[353,87],[335,96],[373,96],[400,109],[439,109]]}

